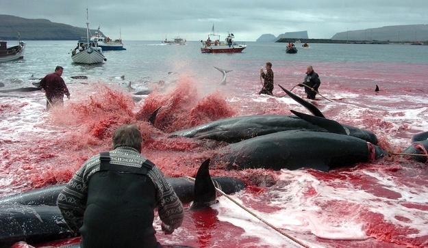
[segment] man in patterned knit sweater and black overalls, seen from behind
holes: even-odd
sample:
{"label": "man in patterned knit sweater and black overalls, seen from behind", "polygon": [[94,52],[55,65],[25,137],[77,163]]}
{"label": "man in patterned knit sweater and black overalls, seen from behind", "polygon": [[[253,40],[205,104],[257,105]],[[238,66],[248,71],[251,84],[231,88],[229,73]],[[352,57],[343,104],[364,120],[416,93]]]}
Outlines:
{"label": "man in patterned knit sweater and black overalls, seen from behind", "polygon": [[113,133],[113,149],[88,159],[58,195],[57,204],[81,248],[162,247],[153,228],[158,208],[164,234],[184,219],[183,205],[158,167],[140,154],[134,125]]}

